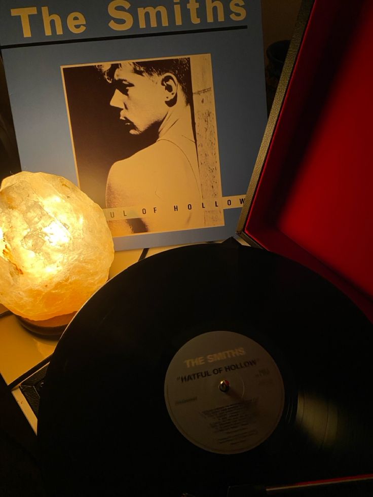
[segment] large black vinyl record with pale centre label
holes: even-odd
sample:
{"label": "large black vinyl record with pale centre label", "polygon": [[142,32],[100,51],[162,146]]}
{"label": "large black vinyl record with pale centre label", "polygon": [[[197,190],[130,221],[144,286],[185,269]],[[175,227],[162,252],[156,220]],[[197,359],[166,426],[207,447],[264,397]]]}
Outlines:
{"label": "large black vinyl record with pale centre label", "polygon": [[300,264],[236,241],[108,281],[53,354],[38,439],[54,494],[223,497],[373,470],[373,329]]}

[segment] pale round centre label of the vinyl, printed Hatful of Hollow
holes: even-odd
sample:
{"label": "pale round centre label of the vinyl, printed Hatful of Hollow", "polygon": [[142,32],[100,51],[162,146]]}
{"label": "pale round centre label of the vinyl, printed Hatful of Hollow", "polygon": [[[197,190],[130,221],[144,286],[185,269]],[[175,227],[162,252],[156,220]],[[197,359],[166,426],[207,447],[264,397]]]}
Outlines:
{"label": "pale round centre label of the vinyl, printed Hatful of Hollow", "polygon": [[165,378],[168,413],[179,432],[210,452],[234,454],[267,440],[284,408],[272,356],[240,333],[211,331],[175,354]]}

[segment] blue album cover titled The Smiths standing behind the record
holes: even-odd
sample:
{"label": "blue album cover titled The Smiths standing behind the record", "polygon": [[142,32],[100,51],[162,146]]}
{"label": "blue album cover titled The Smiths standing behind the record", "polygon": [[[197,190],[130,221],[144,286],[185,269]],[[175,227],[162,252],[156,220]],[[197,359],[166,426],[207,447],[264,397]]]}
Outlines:
{"label": "blue album cover titled The Smiths standing behind the record", "polygon": [[117,250],[235,234],[267,120],[259,0],[6,0],[0,33],[23,170],[78,184]]}

